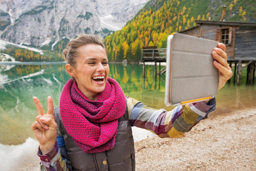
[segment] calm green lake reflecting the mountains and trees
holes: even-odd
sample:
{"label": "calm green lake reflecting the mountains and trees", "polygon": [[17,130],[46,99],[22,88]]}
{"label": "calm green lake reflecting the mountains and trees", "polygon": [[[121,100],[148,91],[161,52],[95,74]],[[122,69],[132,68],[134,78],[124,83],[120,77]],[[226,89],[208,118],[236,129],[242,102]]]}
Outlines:
{"label": "calm green lake reflecting the mountains and trees", "polygon": [[[174,108],[164,105],[165,78],[154,78],[154,66],[145,66],[145,79],[142,64],[110,63],[109,68],[109,76],[120,83],[125,95],[153,108]],[[242,74],[241,86],[235,86],[232,78],[231,83],[218,92],[217,109],[210,117],[255,107],[256,86],[246,85],[246,71]],[[12,163],[10,158],[15,160],[15,157],[36,153],[38,142],[31,125],[38,113],[32,97],[37,96],[46,111],[50,95],[56,107],[68,79],[65,64],[0,65],[0,165],[3,168]],[[137,129],[133,132],[136,141],[152,136]]]}

